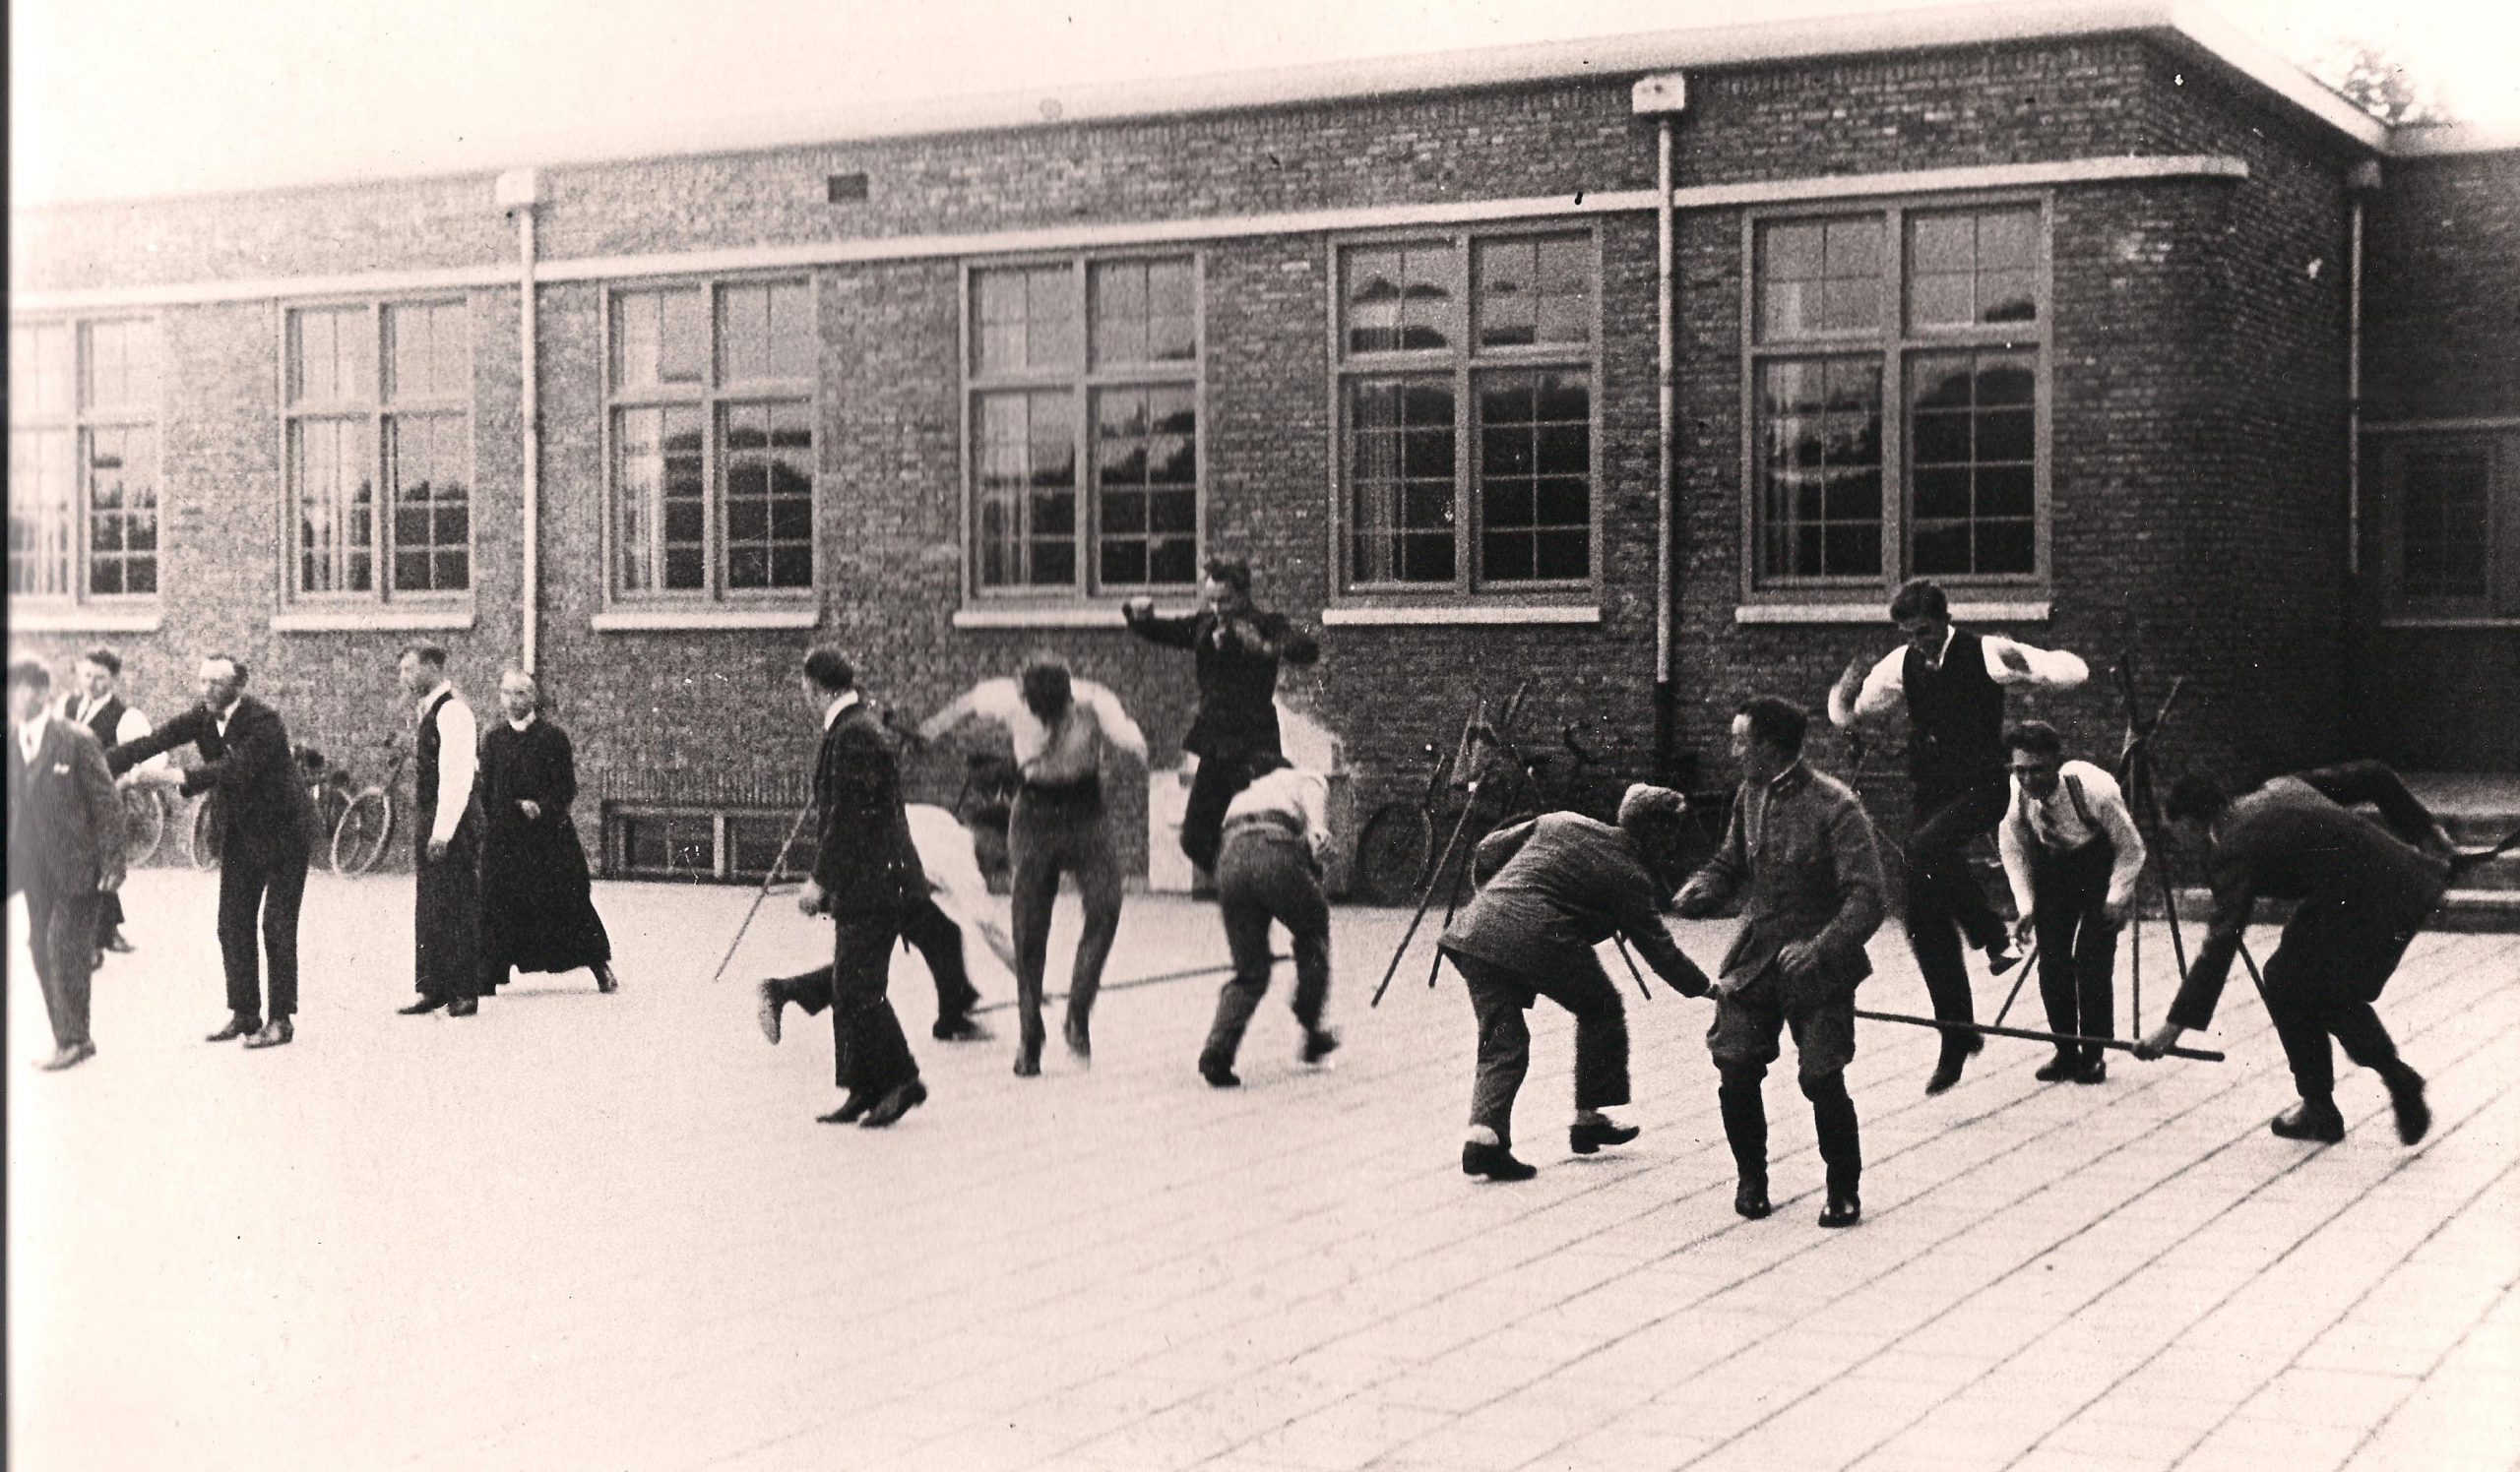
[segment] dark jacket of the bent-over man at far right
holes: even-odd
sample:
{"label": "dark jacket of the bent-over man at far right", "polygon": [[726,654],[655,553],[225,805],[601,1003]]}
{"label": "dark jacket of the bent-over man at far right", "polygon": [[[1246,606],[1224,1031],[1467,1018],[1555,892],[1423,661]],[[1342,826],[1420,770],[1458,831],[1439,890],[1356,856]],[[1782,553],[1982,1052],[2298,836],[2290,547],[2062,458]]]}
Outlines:
{"label": "dark jacket of the bent-over man at far right", "polygon": [[[2344,804],[2379,807],[2391,832]],[[2447,854],[2429,847],[2432,814],[2379,761],[2346,761],[2278,776],[2233,799],[2215,822],[2213,925],[2170,1003],[2182,1028],[2213,1023],[2213,1008],[2258,900],[2303,900],[2356,910],[2371,925],[2414,933],[2449,887]],[[2311,958],[2316,960],[2316,958]]]}

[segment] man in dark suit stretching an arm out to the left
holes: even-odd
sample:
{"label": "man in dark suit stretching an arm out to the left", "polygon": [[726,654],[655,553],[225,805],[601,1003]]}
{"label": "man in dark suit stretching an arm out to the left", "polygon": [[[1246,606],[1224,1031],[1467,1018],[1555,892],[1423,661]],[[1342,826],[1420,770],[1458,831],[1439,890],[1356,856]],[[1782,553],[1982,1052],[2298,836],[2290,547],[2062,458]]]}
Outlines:
{"label": "man in dark suit stretching an arm out to the left", "polygon": [[[229,1013],[209,1041],[244,1038],[247,1049],[275,1049],[295,1038],[297,905],[307,890],[315,809],[290,759],[287,726],[244,693],[244,663],[204,658],[202,703],[106,751],[106,761],[121,774],[176,746],[202,754],[202,764],[184,774],[184,796],[209,791],[217,804],[219,960],[227,965]],[[262,950],[272,958],[270,1011],[262,1006],[262,955],[255,948],[257,912]]]}

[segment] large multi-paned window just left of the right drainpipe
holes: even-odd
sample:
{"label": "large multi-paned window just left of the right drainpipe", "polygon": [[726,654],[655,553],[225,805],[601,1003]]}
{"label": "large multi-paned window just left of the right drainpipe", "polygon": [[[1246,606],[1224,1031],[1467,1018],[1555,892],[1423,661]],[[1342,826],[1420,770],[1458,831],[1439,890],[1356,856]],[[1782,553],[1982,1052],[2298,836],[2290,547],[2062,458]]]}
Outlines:
{"label": "large multi-paned window just left of the right drainpipe", "polygon": [[1593,585],[1600,250],[1590,232],[1338,250],[1341,585]]}

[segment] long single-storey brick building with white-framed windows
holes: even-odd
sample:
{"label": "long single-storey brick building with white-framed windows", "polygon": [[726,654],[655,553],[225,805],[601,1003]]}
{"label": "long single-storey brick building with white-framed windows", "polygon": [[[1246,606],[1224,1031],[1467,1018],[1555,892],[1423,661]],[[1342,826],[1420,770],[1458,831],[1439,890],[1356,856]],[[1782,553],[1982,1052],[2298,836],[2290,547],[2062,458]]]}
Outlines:
{"label": "long single-storey brick building with white-framed windows", "polygon": [[[766,860],[816,640],[910,711],[1058,648],[1169,761],[1187,660],[1119,602],[1225,549],[1323,628],[1288,701],[1356,812],[1525,676],[1525,731],[1688,771],[1913,572],[2187,676],[2177,761],[2520,771],[2520,139],[2187,8],[741,144],[15,217],[13,643],[154,711],[234,650],[328,749],[416,633],[481,698],[527,658],[615,872]],[[2107,681],[2041,713],[2117,746]]]}

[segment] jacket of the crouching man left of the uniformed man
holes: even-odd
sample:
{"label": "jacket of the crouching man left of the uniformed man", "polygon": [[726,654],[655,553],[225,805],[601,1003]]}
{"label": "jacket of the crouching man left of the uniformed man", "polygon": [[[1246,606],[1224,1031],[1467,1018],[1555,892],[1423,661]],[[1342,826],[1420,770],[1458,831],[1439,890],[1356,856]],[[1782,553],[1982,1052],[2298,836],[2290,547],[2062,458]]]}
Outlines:
{"label": "jacket of the crouching man left of the uniformed man", "polygon": [[1593,948],[1625,935],[1676,991],[1706,993],[1706,973],[1663,930],[1663,885],[1625,829],[1545,812],[1479,839],[1472,862],[1494,877],[1444,930],[1444,950],[1547,978],[1600,965]]}

